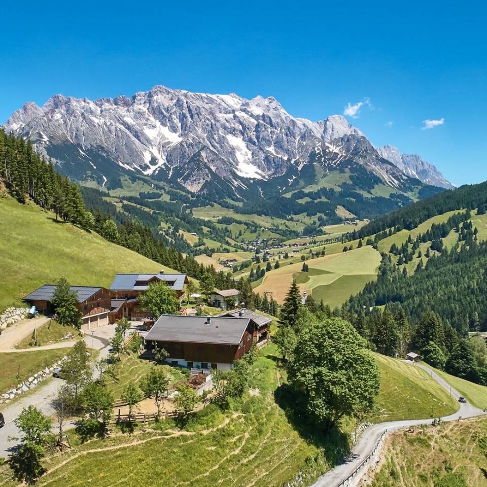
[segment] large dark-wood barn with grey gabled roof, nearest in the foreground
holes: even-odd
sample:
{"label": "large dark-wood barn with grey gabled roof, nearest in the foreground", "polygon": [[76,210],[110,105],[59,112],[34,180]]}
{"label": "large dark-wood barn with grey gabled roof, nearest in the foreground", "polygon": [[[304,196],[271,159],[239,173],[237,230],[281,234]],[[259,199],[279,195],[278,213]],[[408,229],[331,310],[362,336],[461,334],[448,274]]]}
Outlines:
{"label": "large dark-wood barn with grey gabled roof, nearest in the foreground", "polygon": [[167,351],[173,365],[230,369],[253,344],[249,318],[162,315],[145,337],[148,350]]}

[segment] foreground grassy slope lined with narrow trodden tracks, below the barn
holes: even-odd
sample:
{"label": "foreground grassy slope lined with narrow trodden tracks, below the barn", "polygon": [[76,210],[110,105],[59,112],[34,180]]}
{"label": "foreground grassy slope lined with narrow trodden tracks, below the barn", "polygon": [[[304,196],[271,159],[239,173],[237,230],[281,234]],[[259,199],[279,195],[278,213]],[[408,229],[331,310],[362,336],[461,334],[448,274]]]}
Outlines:
{"label": "foreground grassy slope lined with narrow trodden tracks, below the barn", "polygon": [[[275,403],[279,389],[275,354],[273,344],[265,347],[251,369],[254,395],[228,411],[223,423],[221,413],[210,406],[199,414],[199,421],[190,422],[186,434],[168,431],[173,427],[168,423],[162,431],[137,431],[134,436],[113,435],[78,444],[62,458],[51,457],[49,469],[65,463],[42,478],[40,485],[78,486],[89,479],[97,487],[108,487],[115,479],[120,486],[264,487],[283,485],[310,468],[326,470],[340,455],[336,437],[325,439],[316,428],[290,419],[285,412],[289,398],[279,399],[281,407]],[[79,456],[82,451],[87,453]],[[316,463],[315,458],[324,463]],[[1,485],[11,485],[7,472],[0,467]]]}

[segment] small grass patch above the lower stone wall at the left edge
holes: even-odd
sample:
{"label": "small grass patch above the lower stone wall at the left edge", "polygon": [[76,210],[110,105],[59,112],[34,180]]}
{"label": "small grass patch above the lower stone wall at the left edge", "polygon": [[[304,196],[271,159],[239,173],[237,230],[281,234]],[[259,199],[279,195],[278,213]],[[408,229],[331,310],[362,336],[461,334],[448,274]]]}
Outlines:
{"label": "small grass patch above the lower stone wall at the left edge", "polygon": [[[68,351],[69,349],[52,349],[0,354],[0,393],[16,387],[19,382],[51,366]],[[18,378],[17,373],[19,373]]]}

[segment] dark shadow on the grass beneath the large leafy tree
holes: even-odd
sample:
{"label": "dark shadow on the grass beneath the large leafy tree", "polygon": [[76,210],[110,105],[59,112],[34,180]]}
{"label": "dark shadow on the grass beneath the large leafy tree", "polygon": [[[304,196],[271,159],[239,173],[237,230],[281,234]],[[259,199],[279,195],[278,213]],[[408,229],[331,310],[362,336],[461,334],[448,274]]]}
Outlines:
{"label": "dark shadow on the grass beneath the large leafy tree", "polygon": [[306,443],[322,450],[324,460],[328,465],[342,462],[350,453],[349,437],[337,427],[324,431],[317,422],[310,418],[302,394],[296,392],[288,384],[283,384],[275,390],[274,399],[299,436]]}

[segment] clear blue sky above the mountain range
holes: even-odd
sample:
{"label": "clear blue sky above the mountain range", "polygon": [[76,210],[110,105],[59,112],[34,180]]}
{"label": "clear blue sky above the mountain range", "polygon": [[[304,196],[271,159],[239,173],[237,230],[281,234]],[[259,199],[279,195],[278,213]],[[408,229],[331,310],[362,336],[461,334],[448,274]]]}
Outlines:
{"label": "clear blue sky above the mountain range", "polygon": [[457,185],[487,180],[480,2],[69,4],[3,5],[0,123],[56,93],[156,84],[272,95],[311,120],[350,103],[347,118],[373,144],[420,154]]}

